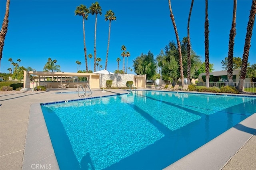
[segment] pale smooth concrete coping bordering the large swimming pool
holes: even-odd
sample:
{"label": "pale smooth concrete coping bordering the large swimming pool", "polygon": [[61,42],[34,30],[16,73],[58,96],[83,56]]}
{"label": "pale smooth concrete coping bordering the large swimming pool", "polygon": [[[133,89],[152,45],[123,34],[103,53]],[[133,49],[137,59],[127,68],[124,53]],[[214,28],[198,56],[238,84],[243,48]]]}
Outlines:
{"label": "pale smooth concrete coping bordering the large swimming pool", "polygon": [[[147,90],[152,91],[152,90]],[[156,90],[154,90],[156,91]],[[170,91],[179,93],[181,91]],[[185,93],[190,93],[184,91]],[[184,93],[182,92],[182,93]],[[127,94],[127,93],[126,93]],[[202,93],[198,93],[202,94]],[[206,95],[214,95],[212,93],[203,93]],[[116,94],[118,95],[118,94]],[[120,95],[120,94],[119,94]],[[218,94],[227,95],[227,94]],[[109,97],[114,95],[107,95],[103,97]],[[231,95],[234,96],[234,95]],[[235,95],[242,97],[255,97],[250,95]],[[92,97],[100,98],[98,97]],[[92,98],[84,99],[73,99],[70,101],[87,100]],[[48,102],[47,104],[53,103],[64,103],[63,101]],[[69,101],[68,101],[69,102]],[[44,103],[46,104],[46,103]],[[47,105],[46,104],[46,105]],[[58,162],[52,147],[52,142],[44,121],[44,116],[41,109],[42,103],[35,103],[30,106],[30,114],[28,119],[27,135],[25,140],[25,150],[23,158],[23,170],[35,169],[36,166],[44,167],[46,169],[60,169]],[[210,142],[204,144],[200,148],[194,150],[190,154],[184,156],[180,160],[174,162],[170,166],[166,167],[169,169],[220,169],[228,160],[236,154],[236,152],[256,133],[256,113],[244,119],[234,127],[230,128],[226,132],[220,134]],[[241,128],[242,127],[242,128]],[[246,128],[247,127],[247,128]],[[248,131],[248,129],[250,129]],[[253,134],[252,134],[253,133]],[[232,147],[231,147],[232,146]],[[228,150],[226,149],[228,148]],[[209,156],[211,154],[211,156]],[[200,164],[198,163],[200,162]]]}

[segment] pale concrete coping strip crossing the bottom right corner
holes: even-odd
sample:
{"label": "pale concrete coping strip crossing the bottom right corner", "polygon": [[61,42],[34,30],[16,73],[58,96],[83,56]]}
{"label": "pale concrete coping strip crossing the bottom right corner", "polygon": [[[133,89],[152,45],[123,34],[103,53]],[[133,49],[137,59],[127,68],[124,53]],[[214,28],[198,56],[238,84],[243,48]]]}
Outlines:
{"label": "pale concrete coping strip crossing the bottom right corner", "polygon": [[[165,170],[220,170],[247,142],[256,135],[256,113],[220,134],[197,150],[174,162]],[[254,146],[251,146],[254,147]],[[242,156],[240,156],[242,161]],[[248,159],[244,157],[244,159]],[[253,159],[253,158],[252,158]],[[251,169],[247,165],[247,169]],[[235,167],[230,167],[234,169]],[[238,167],[236,167],[238,168]]]}

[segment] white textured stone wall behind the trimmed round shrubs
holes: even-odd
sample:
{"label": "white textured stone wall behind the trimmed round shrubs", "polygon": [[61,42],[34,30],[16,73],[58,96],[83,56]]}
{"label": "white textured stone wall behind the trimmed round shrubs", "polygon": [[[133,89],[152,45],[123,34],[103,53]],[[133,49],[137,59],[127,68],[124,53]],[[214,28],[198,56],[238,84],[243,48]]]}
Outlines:
{"label": "white textured stone wall behind the trimmed round shrubs", "polygon": [[126,87],[127,81],[134,81],[133,74],[100,74],[100,88],[106,88],[106,81],[113,80],[111,87]]}

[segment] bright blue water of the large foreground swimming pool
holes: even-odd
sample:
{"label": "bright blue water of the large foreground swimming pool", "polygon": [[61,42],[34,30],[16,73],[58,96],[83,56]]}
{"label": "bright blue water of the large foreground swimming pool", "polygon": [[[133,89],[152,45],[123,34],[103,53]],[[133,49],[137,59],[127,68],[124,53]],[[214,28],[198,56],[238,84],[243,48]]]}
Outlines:
{"label": "bright blue water of the large foreground swimming pool", "polygon": [[256,97],[136,91],[42,105],[60,169],[158,170],[256,112]]}

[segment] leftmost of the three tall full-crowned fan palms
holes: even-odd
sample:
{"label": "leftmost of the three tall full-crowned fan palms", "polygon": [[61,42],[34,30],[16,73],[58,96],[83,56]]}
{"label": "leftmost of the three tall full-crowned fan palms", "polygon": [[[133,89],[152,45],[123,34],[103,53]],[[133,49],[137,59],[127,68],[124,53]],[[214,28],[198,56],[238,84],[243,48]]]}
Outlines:
{"label": "leftmost of the three tall full-crowned fan palms", "polygon": [[86,55],[86,45],[85,45],[85,29],[84,29],[84,20],[88,20],[88,14],[89,14],[89,9],[86,8],[85,5],[81,4],[80,6],[76,7],[75,10],[75,16],[79,15],[83,17],[83,32],[84,32],[84,59],[85,59],[85,67],[86,67],[86,72],[88,72],[88,65],[87,65],[87,55]]}

